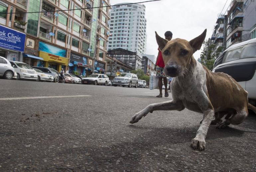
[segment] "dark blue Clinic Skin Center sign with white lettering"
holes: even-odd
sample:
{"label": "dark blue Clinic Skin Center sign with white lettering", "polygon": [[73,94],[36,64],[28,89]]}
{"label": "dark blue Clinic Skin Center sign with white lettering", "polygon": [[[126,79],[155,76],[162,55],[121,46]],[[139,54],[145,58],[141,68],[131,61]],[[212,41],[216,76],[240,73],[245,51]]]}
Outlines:
{"label": "dark blue Clinic Skin Center sign with white lettering", "polygon": [[26,34],[0,25],[0,47],[24,52]]}

